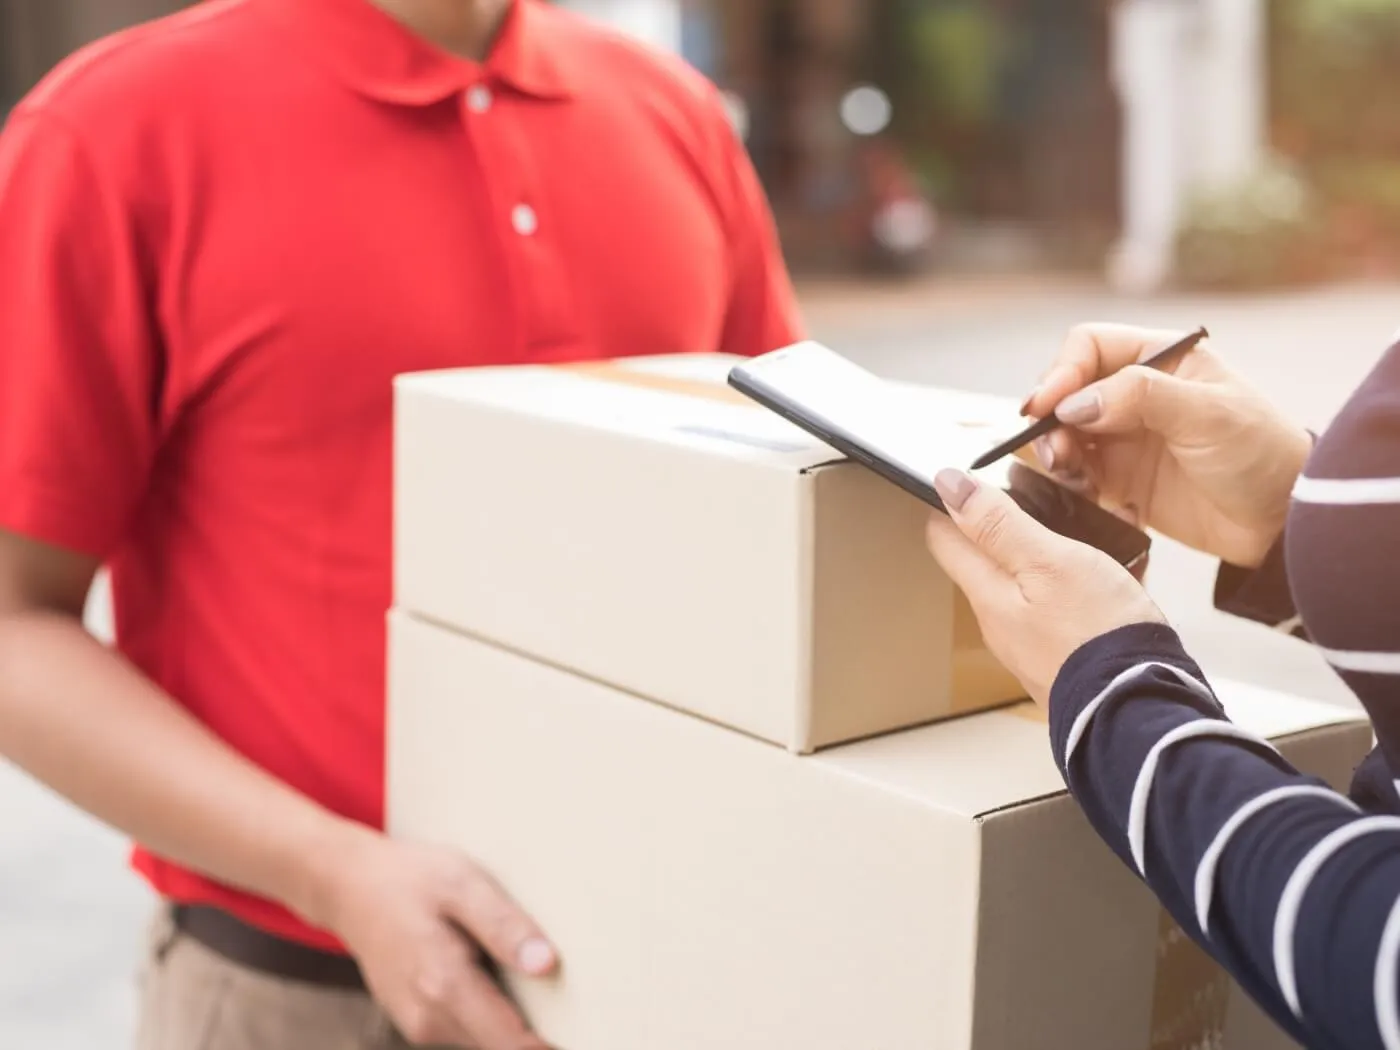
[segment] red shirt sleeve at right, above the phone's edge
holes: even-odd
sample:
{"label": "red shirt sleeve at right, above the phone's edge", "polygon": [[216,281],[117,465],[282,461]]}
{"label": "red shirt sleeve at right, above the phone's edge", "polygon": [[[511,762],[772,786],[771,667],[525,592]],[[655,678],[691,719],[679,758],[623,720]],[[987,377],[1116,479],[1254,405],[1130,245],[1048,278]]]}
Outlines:
{"label": "red shirt sleeve at right, above the phone's edge", "polygon": [[721,164],[729,186],[734,277],[720,350],[753,357],[801,342],[805,335],[767,197],[748,150],[734,133],[718,92],[715,95],[714,108],[724,123]]}

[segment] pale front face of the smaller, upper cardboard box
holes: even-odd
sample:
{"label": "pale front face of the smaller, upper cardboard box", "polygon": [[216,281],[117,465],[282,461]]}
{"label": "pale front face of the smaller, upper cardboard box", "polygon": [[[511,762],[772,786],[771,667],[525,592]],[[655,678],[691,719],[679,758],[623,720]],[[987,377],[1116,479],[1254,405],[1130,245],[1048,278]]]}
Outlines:
{"label": "pale front face of the smaller, upper cardboard box", "polygon": [[[550,403],[602,386],[536,371]],[[400,384],[396,603],[799,743],[809,479],[764,449],[711,444],[542,423]],[[706,651],[728,658],[697,659]]]}

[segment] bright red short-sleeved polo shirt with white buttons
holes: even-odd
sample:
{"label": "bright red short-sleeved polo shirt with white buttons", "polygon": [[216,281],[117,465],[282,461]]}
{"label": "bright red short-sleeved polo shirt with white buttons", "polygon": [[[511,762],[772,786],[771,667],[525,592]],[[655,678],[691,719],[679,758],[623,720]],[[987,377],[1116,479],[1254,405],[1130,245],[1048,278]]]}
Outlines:
{"label": "bright red short-sleeved polo shirt with white buttons", "polygon": [[391,378],[797,336],[714,88],[535,0],[483,64],[370,0],[216,0],[71,59],[0,137],[0,528],[105,559],[126,655],[370,825]]}

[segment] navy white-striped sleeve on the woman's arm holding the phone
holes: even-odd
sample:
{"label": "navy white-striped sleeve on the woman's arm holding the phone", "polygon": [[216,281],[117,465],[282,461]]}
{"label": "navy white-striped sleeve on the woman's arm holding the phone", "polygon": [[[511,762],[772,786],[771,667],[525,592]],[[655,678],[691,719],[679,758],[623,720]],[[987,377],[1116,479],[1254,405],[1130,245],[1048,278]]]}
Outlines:
{"label": "navy white-striped sleeve on the woman's arm holding the phone", "polygon": [[1294,1039],[1400,1050],[1400,816],[1229,722],[1159,624],[1077,651],[1050,729],[1099,834]]}

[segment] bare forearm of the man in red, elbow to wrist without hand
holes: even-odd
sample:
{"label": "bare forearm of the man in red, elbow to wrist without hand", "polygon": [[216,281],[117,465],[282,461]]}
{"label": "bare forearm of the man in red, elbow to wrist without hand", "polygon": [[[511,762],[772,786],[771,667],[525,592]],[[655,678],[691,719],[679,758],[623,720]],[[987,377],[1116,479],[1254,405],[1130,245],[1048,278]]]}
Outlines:
{"label": "bare forearm of the man in red, elbow to wrist without hand", "polygon": [[154,853],[315,924],[335,857],[367,833],[237,755],[62,613],[0,617],[0,755]]}

